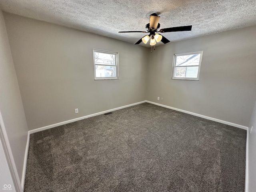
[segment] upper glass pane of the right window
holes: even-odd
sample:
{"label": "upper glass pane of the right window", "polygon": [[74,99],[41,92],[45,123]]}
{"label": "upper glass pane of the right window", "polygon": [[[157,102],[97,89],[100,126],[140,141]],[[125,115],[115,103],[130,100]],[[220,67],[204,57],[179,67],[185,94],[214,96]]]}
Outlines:
{"label": "upper glass pane of the right window", "polygon": [[175,66],[199,65],[200,54],[176,56]]}

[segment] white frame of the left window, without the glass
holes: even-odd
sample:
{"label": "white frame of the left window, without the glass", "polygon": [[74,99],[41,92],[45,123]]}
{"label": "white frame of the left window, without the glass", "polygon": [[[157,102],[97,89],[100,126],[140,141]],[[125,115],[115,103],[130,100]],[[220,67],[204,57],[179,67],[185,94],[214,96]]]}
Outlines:
{"label": "white frame of the left window, without the glass", "polygon": [[[93,50],[93,63],[94,63],[94,80],[113,80],[113,79],[118,79],[118,52],[105,51],[105,50],[100,50],[100,49],[92,49],[92,50]],[[116,63],[116,65],[95,64],[95,52],[116,55],[115,56],[115,59],[116,59],[115,63]],[[96,77],[96,65],[115,66],[116,67],[116,77]]]}

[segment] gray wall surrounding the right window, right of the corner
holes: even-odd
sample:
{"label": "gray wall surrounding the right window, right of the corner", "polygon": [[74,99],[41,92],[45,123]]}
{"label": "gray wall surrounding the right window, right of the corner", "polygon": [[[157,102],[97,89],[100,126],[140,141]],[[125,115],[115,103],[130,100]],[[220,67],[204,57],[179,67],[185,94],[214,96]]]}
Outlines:
{"label": "gray wall surrounding the right window, right of the corner", "polygon": [[[256,100],[255,39],[252,26],[156,47],[147,100],[248,126]],[[173,55],[198,50],[204,51],[199,81],[172,80]]]}

